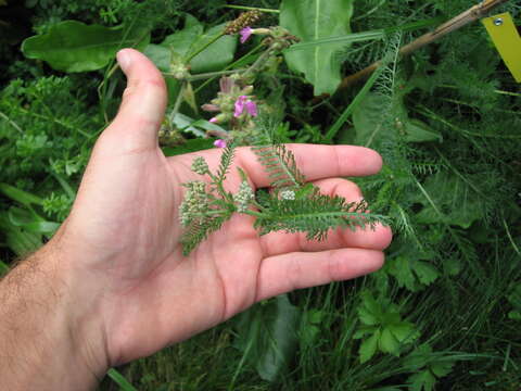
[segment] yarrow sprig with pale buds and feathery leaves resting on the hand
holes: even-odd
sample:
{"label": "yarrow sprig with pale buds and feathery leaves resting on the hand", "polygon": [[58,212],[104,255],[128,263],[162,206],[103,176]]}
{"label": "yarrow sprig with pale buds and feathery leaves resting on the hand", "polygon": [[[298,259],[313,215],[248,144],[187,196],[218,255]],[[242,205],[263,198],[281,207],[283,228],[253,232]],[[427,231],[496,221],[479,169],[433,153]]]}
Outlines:
{"label": "yarrow sprig with pale buds and feathery leaves resting on the hand", "polygon": [[185,255],[189,255],[234,213],[254,216],[253,227],[259,235],[281,230],[305,232],[308,240],[325,240],[332,228],[365,229],[386,222],[384,216],[369,213],[365,201],[347,202],[338,195],[325,195],[318,187],[306,184],[294,163],[293,153],[282,144],[263,144],[254,149],[272,179],[274,191],[255,193],[247,174],[238,167],[241,184],[236,193],[229,192],[225,190],[224,181],[232,166],[234,148],[233,144],[226,147],[216,173],[211,172],[202,156],[192,162],[191,169],[204,176],[206,182],[185,184],[188,190],[179,209],[180,223],[186,227],[181,238]]}

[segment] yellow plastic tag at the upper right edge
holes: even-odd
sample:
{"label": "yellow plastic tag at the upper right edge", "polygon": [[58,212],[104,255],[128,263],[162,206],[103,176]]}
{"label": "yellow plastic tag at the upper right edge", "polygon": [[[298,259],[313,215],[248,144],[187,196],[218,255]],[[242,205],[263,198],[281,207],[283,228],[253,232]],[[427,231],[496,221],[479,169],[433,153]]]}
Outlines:
{"label": "yellow plastic tag at the upper right edge", "polygon": [[506,12],[485,17],[483,24],[513,78],[521,83],[521,37],[512,16]]}

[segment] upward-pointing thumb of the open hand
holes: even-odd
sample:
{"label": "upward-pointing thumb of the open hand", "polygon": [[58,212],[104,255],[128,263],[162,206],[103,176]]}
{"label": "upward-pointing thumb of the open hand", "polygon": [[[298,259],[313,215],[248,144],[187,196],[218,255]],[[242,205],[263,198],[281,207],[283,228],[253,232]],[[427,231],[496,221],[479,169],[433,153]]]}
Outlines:
{"label": "upward-pointing thumb of the open hand", "polygon": [[157,147],[157,133],[165,115],[166,85],[161,72],[142,53],[123,49],[117,62],[127,76],[127,88],[116,118],[105,133],[129,150]]}

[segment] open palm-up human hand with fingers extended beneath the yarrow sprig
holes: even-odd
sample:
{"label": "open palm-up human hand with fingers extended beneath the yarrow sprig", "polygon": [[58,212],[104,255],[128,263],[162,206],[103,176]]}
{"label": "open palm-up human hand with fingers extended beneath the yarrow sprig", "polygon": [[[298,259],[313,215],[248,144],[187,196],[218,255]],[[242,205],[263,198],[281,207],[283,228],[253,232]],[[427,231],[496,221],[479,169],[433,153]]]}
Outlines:
{"label": "open palm-up human hand with fingers extended beneath the yarrow sprig", "polygon": [[[303,235],[258,237],[253,217],[245,215],[234,215],[182,256],[181,184],[201,179],[190,169],[194,156],[204,156],[214,169],[220,151],[165,157],[157,144],[167,99],[164,79],[135,50],[123,50],[118,60],[128,78],[119,113],[94,147],[71,215],[47,245],[58,254],[51,256],[56,268],[66,270],[77,318],[87,319],[78,336],[92,346],[92,366],[149,355],[259,300],[382,266],[389,228],[335,230],[325,242],[308,242]],[[381,157],[365,148],[290,149],[308,180],[347,201],[360,200],[361,192],[339,177],[381,168]],[[269,185],[247,148],[238,149],[234,166],[247,173],[254,188]],[[233,190],[241,181],[236,172],[226,181]]]}

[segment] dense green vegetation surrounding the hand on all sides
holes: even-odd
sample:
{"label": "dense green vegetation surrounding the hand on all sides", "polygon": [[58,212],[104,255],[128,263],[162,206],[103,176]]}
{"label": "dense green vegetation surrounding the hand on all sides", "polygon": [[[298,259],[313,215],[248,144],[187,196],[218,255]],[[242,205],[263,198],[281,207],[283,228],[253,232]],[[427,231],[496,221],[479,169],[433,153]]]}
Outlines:
{"label": "dense green vegetation surrounding the hand on all sides", "polygon": [[[398,58],[399,47],[473,1],[323,3],[247,2],[277,11],[257,27],[281,25],[303,45],[256,76],[258,121],[279,142],[353,143],[382,154],[381,174],[353,180],[371,211],[392,219],[384,268],[260,303],[117,368],[102,390],[132,390],[122,375],[155,391],[521,388],[520,85],[479,22]],[[241,4],[0,0],[0,273],[66,217],[125,87],[117,49],[137,47],[165,73],[192,56],[191,77],[249,67],[262,37],[241,45],[225,36],[206,48],[241,12],[227,5]],[[520,25],[518,1],[496,11]],[[92,39],[104,45],[92,52],[75,39],[94,24]],[[353,39],[365,31],[380,33]],[[343,39],[326,43],[330,37]],[[304,47],[312,38],[322,41]],[[380,59],[366,85],[335,92],[343,77]],[[188,89],[168,77],[166,154],[212,148],[203,136],[215,127],[199,106],[215,98],[218,78],[195,78]],[[331,97],[314,99],[325,92]]]}

